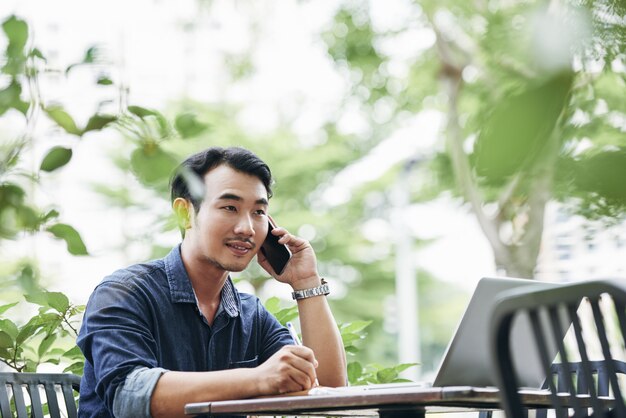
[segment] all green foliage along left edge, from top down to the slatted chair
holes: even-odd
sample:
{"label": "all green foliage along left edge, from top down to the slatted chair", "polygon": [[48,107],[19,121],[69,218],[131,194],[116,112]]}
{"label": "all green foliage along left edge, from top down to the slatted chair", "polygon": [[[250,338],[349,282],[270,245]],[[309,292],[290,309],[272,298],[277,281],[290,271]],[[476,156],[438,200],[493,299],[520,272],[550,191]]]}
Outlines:
{"label": "all green foliage along left edge, from top down to the slatted chair", "polygon": [[[10,16],[2,22],[2,31],[6,43],[0,54],[0,122],[3,128],[0,134],[0,247],[45,233],[63,240],[70,254],[87,255],[78,231],[59,222],[61,214],[57,208],[53,205],[40,207],[36,203],[42,177],[70,162],[72,149],[46,146],[48,150],[39,164],[29,161],[29,152],[36,142],[35,128],[41,123],[42,114],[47,119],[44,123],[52,130],[62,130],[75,140],[104,128],[116,118],[96,112],[84,127],[78,126],[60,104],[45,100],[40,77],[46,72],[59,71],[48,68],[45,56],[32,45],[28,24]],[[87,58],[79,64],[91,62]],[[14,135],[12,128],[20,125],[16,122],[19,119],[23,120],[22,129]],[[83,358],[75,348],[74,339],[83,306],[74,305],[65,295],[41,287],[41,277],[45,275],[39,272],[36,254],[20,255],[24,258],[18,260],[10,259],[9,254],[3,252],[0,269],[0,363],[17,371],[36,371],[41,363],[64,363],[66,371],[80,373]],[[13,314],[22,308],[23,304],[15,307],[20,305],[22,296],[39,309],[34,315],[22,309],[16,316],[30,318],[20,323],[15,317],[10,319],[6,312]]]}

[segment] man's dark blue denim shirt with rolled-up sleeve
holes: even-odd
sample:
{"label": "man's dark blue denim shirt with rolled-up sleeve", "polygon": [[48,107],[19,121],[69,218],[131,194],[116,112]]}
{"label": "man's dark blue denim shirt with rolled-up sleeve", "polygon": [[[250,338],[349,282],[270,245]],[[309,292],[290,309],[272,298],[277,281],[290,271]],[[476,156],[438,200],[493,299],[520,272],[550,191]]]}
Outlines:
{"label": "man's dark blue denim shirt with rolled-up sleeve", "polygon": [[121,416],[123,410],[142,417],[149,416],[150,396],[165,371],[256,367],[293,340],[230,278],[209,326],[177,246],[165,258],[106,277],[89,298],[77,344],[85,355],[79,416]]}

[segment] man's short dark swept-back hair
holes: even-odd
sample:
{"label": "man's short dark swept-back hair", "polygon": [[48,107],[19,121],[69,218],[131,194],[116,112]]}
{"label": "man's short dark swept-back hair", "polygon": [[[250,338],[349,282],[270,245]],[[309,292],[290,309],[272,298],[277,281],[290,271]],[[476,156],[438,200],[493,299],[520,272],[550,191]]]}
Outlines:
{"label": "man's short dark swept-back hair", "polygon": [[[197,213],[204,198],[204,175],[222,164],[258,177],[267,190],[267,197],[272,197],[272,172],[256,154],[239,147],[211,147],[193,154],[178,166],[170,182],[172,203],[182,197],[193,204]],[[202,186],[202,190],[196,186]]]}

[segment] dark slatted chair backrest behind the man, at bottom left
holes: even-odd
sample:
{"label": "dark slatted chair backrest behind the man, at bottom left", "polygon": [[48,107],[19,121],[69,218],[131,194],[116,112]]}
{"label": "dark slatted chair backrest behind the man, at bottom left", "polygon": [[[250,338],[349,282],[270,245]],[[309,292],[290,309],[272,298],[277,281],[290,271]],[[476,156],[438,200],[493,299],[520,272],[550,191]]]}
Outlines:
{"label": "dark slatted chair backrest behind the man, at bottom left", "polygon": [[[64,416],[76,418],[74,392],[78,392],[79,385],[80,376],[74,374],[0,373],[0,416],[13,417],[13,403],[18,418],[43,418],[44,405],[52,418],[61,418],[61,411],[65,411]],[[64,409],[59,405],[59,395]]]}

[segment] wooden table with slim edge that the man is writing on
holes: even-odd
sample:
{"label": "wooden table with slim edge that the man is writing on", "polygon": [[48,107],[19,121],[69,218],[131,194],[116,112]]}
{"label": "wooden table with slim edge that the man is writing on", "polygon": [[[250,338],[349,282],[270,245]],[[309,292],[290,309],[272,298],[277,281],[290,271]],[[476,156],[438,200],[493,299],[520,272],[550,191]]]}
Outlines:
{"label": "wooden table with slim edge that the man is writing on", "polygon": [[[523,393],[528,407],[548,405],[548,392]],[[323,415],[423,417],[426,412],[498,409],[496,388],[413,387],[187,404],[188,415]]]}

